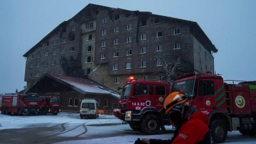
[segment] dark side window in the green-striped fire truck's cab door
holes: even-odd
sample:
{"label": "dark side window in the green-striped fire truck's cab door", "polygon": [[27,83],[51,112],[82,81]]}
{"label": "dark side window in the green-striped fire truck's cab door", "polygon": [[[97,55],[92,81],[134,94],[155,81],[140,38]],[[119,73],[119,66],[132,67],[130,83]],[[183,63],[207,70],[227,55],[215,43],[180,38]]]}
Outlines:
{"label": "dark side window in the green-striped fire truck's cab door", "polygon": [[214,95],[213,81],[199,81],[199,96]]}

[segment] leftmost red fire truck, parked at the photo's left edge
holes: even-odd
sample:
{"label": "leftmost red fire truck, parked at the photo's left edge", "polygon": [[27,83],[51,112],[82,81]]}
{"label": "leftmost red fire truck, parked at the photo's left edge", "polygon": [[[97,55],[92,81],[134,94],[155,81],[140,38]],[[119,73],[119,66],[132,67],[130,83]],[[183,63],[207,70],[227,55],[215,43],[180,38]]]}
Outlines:
{"label": "leftmost red fire truck, parked at the photo's left edge", "polygon": [[0,109],[2,114],[38,113],[39,95],[36,93],[27,94],[4,94],[0,95]]}

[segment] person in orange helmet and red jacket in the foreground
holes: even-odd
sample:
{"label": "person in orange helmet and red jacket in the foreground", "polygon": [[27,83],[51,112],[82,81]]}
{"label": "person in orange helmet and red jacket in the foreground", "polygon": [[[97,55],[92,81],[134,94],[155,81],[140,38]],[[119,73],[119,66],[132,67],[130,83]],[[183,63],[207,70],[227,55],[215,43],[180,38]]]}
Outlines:
{"label": "person in orange helmet and red jacket in the foreground", "polygon": [[208,128],[209,118],[193,106],[188,106],[188,99],[182,93],[173,92],[164,100],[161,111],[170,116],[176,129],[170,140],[138,138],[135,144],[176,144],[176,143],[204,143],[211,144],[211,133]]}

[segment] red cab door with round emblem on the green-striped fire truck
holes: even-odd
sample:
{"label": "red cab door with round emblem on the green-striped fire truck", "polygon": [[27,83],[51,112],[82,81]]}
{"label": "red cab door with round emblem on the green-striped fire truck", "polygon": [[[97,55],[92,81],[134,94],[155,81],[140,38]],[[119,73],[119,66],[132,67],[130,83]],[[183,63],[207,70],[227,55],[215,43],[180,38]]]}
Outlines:
{"label": "red cab door with round emblem on the green-striped fire truck", "polygon": [[198,110],[208,115],[216,109],[215,99],[214,81],[200,79],[198,81],[198,97],[196,99],[196,106]]}

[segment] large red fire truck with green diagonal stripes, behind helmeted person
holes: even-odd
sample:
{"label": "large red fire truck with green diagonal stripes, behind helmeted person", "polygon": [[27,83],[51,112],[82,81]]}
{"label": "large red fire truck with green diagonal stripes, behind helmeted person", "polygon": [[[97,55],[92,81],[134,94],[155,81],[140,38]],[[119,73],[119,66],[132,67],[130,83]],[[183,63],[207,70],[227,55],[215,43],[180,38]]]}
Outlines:
{"label": "large red fire truck with green diagonal stripes, behind helmeted person", "polygon": [[188,74],[174,81],[172,92],[183,92],[189,106],[209,115],[215,143],[223,143],[227,131],[256,134],[256,81],[223,81],[220,75]]}

